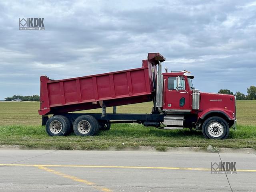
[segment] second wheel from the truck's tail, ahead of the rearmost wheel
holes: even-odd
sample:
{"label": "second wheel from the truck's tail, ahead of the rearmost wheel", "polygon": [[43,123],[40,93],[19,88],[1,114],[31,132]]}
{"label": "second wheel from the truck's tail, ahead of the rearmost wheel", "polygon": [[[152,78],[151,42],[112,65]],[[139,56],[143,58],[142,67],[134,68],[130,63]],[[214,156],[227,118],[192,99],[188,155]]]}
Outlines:
{"label": "second wheel from the truck's tail, ahead of the rearmost wheel", "polygon": [[78,136],[92,136],[98,132],[100,125],[90,115],[82,115],[76,118],[73,124],[74,133]]}

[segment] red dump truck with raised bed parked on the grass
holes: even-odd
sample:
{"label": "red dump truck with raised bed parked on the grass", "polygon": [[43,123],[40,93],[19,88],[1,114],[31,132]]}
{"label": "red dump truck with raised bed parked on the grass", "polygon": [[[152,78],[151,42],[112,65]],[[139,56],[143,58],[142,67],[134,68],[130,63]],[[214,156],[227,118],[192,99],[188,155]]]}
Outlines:
{"label": "red dump truck with raised bed parked on the grass", "polygon": [[[136,122],[160,129],[195,128],[205,138],[227,138],[229,129],[236,129],[236,97],[200,92],[190,72],[165,68],[162,73],[164,61],[161,54],[149,53],[141,68],[63,80],[41,76],[42,125],[50,136],[65,136],[72,129],[76,135],[92,136],[109,130],[110,124]],[[116,106],[149,101],[150,114],[116,113]],[[106,113],[106,107],[113,107],[113,113]],[[95,108],[102,113],[71,113]]]}

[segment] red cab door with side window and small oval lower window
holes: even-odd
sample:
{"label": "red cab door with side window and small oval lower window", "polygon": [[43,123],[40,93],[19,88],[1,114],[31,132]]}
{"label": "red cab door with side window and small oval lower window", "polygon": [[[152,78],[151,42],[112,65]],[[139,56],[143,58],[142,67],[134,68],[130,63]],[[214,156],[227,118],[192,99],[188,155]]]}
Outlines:
{"label": "red cab door with side window and small oval lower window", "polygon": [[163,110],[166,112],[190,112],[191,96],[186,77],[182,76],[182,88],[176,90],[177,76],[164,76]]}

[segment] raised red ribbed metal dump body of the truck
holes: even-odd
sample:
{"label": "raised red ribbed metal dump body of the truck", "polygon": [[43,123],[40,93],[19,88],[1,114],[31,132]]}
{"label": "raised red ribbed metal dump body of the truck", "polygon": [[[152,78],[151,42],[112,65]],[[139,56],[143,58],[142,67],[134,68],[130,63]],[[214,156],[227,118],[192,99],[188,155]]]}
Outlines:
{"label": "raised red ribbed metal dump body of the truck", "polygon": [[141,68],[105,74],[63,80],[41,76],[38,112],[40,115],[60,114],[101,108],[102,104],[109,107],[151,101],[156,82],[153,60],[162,58],[160,54],[149,54]]}

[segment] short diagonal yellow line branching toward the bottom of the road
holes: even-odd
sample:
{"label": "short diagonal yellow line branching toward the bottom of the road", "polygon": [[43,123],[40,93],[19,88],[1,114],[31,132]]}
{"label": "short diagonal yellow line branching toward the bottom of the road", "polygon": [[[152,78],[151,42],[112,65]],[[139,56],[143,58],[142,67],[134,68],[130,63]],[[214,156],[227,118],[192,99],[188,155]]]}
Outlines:
{"label": "short diagonal yellow line branching toward the bottom of the road", "polygon": [[68,179],[74,180],[74,181],[76,181],[76,182],[80,182],[80,183],[84,183],[84,184],[86,184],[86,185],[90,185],[90,186],[92,186],[92,187],[94,187],[94,188],[96,188],[96,189],[98,189],[98,190],[100,190],[100,191],[103,191],[103,192],[111,192],[111,190],[108,189],[108,188],[102,188],[102,187],[100,187],[100,186],[96,186],[96,184],[95,184],[94,182],[90,182],[90,181],[87,181],[87,180],[84,180],[84,179],[80,179],[80,178],[75,177],[75,176],[70,176],[70,175],[68,175],[68,174],[64,174],[64,173],[62,173],[62,172],[58,172],[58,171],[49,169],[49,168],[44,167],[44,166],[36,166],[36,167],[38,167],[39,169],[45,170],[45,171],[47,171],[47,172],[56,174],[56,175],[58,175],[58,176],[62,176],[62,177],[64,177],[64,178],[68,178]]}

